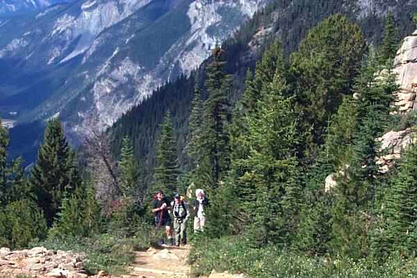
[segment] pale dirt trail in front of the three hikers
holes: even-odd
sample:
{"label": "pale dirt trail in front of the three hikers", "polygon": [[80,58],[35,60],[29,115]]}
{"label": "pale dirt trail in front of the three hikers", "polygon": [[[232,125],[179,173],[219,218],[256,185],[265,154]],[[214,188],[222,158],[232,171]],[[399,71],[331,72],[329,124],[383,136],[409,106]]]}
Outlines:
{"label": "pale dirt trail in front of the three hikers", "polygon": [[146,251],[138,251],[131,275],[146,278],[190,277],[188,251],[188,245],[166,246],[163,249],[150,247]]}

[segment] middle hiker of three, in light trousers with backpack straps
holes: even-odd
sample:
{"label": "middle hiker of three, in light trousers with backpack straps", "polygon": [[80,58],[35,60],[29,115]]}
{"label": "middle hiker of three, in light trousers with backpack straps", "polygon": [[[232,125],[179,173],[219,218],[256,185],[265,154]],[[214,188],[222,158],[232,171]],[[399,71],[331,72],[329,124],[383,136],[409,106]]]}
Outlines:
{"label": "middle hiker of three, in light trousers with backpack straps", "polygon": [[174,215],[175,245],[187,244],[187,221],[190,218],[190,208],[179,194],[174,195],[174,201],[171,202],[172,215]]}

